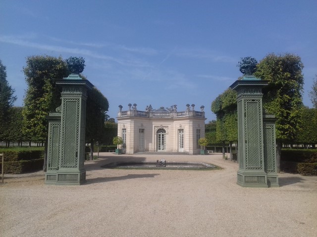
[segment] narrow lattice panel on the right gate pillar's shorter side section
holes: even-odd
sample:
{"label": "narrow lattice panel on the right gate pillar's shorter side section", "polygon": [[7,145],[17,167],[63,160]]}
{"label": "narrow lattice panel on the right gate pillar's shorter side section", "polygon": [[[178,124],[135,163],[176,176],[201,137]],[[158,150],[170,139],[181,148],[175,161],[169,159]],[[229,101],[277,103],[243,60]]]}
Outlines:
{"label": "narrow lattice panel on the right gate pillar's shorter side section", "polygon": [[275,172],[275,141],[273,129],[273,125],[266,124],[264,127],[264,158],[266,172]]}

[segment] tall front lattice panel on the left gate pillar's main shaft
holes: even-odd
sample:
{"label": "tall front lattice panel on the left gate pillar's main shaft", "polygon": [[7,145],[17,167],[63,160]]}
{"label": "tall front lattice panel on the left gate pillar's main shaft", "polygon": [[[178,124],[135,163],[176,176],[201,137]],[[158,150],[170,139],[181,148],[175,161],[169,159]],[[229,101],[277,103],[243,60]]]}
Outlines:
{"label": "tall front lattice panel on the left gate pillar's main shaft", "polygon": [[76,168],[78,164],[79,106],[79,98],[63,100],[61,167]]}

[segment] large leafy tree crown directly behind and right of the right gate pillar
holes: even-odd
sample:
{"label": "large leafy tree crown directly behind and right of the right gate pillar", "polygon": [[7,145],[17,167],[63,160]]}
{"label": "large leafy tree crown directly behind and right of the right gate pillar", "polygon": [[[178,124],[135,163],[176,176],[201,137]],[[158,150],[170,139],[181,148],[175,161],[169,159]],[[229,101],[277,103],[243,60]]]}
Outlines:
{"label": "large leafy tree crown directly behind and right of the right gate pillar", "polygon": [[257,65],[254,75],[268,80],[264,87],[264,108],[274,114],[276,137],[293,140],[298,130],[302,113],[302,90],[304,65],[299,56],[293,54],[268,54]]}

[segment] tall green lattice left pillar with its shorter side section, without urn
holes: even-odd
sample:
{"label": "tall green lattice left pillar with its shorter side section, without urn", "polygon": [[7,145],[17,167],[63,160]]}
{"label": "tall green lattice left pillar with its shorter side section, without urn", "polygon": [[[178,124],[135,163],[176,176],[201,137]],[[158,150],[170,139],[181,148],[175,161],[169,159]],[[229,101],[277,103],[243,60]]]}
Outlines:
{"label": "tall green lattice left pillar with its shorter side section, without urn", "polygon": [[[60,112],[60,126],[58,138],[55,136],[57,128],[55,133],[49,132],[48,154],[51,150],[52,155],[48,156],[48,160],[51,159],[55,163],[56,155],[53,154],[57,152],[58,165],[57,170],[52,170],[48,162],[46,183],[80,185],[86,182],[84,169],[86,99],[87,90],[92,89],[93,85],[74,74],[69,75],[68,78],[55,80],[55,83],[62,87],[61,106],[56,109]],[[53,122],[51,123],[53,132]],[[57,139],[59,146],[54,146]]]}

